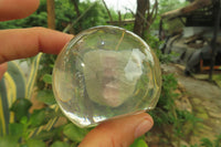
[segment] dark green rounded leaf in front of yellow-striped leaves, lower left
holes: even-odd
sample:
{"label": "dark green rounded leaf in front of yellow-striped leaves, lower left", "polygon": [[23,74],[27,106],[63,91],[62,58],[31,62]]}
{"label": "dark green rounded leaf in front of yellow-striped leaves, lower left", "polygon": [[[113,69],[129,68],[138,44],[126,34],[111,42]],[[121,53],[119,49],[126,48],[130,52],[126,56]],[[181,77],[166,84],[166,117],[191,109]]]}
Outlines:
{"label": "dark green rounded leaf in front of yellow-striped leaves, lower left", "polygon": [[31,105],[31,102],[27,98],[18,98],[12,104],[11,111],[14,112],[17,120],[20,120],[23,116],[28,116]]}

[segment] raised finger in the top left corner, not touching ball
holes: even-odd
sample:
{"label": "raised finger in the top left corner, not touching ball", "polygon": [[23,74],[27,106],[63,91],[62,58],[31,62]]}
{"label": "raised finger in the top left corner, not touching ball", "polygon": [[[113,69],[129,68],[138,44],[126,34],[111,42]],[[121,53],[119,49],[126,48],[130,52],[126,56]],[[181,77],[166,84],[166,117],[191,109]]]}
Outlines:
{"label": "raised finger in the top left corner, not touching ball", "polygon": [[38,7],[39,0],[0,0],[0,21],[25,18]]}

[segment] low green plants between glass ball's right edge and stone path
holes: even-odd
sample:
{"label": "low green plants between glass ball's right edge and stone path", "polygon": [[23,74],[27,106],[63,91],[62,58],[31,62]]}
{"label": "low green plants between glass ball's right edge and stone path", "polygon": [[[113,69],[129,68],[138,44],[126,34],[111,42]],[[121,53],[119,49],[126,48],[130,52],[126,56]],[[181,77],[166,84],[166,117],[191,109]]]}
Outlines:
{"label": "low green plants between glass ball's right edge and stone path", "polygon": [[155,119],[156,127],[171,127],[172,134],[170,139],[173,138],[172,141],[177,141],[177,145],[180,146],[180,139],[189,135],[201,119],[187,111],[179,111],[177,108],[175,104],[175,99],[178,96],[175,93],[177,85],[177,80],[172,74],[162,75],[161,95],[156,108],[150,112],[150,115]]}

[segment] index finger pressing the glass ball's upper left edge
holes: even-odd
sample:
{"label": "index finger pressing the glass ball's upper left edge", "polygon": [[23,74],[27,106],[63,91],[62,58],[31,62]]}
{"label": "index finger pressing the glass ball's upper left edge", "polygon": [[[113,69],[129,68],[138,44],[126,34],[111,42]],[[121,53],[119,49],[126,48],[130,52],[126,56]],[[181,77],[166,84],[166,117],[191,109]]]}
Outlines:
{"label": "index finger pressing the glass ball's upper left edge", "polygon": [[39,52],[57,54],[73,35],[44,28],[0,31],[0,63]]}

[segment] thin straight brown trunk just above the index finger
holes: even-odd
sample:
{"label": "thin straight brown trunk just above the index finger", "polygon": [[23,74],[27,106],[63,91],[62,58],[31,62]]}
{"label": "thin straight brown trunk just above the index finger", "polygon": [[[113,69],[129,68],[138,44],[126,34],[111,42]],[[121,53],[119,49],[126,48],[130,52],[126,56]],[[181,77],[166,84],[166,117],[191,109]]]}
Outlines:
{"label": "thin straight brown trunk just above the index finger", "polygon": [[48,10],[48,28],[55,30],[55,11],[54,11],[54,0],[46,0]]}

